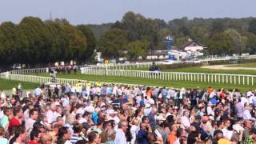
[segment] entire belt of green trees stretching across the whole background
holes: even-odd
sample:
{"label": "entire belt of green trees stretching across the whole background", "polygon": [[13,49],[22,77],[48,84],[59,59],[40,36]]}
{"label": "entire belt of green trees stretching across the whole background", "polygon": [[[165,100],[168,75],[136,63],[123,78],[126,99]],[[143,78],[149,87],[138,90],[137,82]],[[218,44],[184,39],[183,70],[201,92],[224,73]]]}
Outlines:
{"label": "entire belt of green trees stretching across the whole background", "polygon": [[89,62],[94,50],[103,58],[146,58],[150,50],[165,50],[163,38],[179,47],[189,38],[208,47],[209,54],[254,54],[256,18],[179,18],[170,22],[126,13],[121,21],[72,26],[66,19],[23,18],[18,25],[0,25],[0,66],[56,61]]}

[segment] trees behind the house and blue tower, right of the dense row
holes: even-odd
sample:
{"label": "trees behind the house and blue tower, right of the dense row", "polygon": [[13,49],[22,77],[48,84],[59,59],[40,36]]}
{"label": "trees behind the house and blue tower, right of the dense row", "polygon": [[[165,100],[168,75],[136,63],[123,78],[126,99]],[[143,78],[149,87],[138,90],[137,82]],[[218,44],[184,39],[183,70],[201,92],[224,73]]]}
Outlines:
{"label": "trees behind the house and blue tower, right of the dense row", "polygon": [[[208,54],[254,54],[256,51],[256,18],[180,18],[170,22],[126,13],[121,21],[94,27],[98,50],[105,58],[142,58],[149,50],[164,50],[163,38],[174,37],[174,45],[182,46],[189,38],[206,46]],[[123,53],[125,51],[126,53]]]}

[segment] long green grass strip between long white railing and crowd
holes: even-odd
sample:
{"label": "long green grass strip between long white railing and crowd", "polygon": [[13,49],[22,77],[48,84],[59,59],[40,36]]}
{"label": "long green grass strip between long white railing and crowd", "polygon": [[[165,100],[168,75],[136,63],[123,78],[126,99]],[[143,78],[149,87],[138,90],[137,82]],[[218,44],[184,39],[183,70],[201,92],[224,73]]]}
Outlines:
{"label": "long green grass strip between long white railing and crowd", "polygon": [[[49,77],[49,74],[38,74],[38,76]],[[249,89],[254,89],[254,86],[242,86],[242,85],[230,85],[230,84],[220,84],[220,83],[207,83],[207,82],[185,82],[185,81],[163,81],[148,78],[131,78],[131,77],[110,77],[110,76],[94,76],[85,74],[57,74],[57,78],[70,78],[70,79],[81,79],[94,82],[116,82],[116,83],[128,83],[128,84],[138,84],[146,86],[168,86],[175,88],[207,88],[212,86],[214,89],[234,89],[246,91]]]}

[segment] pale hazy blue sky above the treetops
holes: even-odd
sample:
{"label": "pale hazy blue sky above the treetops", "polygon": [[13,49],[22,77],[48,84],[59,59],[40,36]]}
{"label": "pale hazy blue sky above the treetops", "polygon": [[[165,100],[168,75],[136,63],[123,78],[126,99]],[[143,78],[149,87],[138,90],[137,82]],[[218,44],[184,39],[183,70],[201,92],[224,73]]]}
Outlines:
{"label": "pale hazy blue sky above the treetops", "polygon": [[166,22],[174,18],[256,17],[256,0],[0,0],[0,22],[26,16],[66,18],[71,24],[116,22],[128,11]]}

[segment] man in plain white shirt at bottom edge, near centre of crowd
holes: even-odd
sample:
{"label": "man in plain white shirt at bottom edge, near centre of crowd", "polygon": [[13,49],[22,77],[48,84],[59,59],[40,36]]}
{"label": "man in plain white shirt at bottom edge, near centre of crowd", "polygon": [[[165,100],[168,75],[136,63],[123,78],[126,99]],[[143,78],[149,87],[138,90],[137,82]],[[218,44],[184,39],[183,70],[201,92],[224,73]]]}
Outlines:
{"label": "man in plain white shirt at bottom edge, near centre of crowd", "polygon": [[119,123],[118,130],[114,139],[115,144],[126,144],[126,130],[128,129],[127,122]]}

